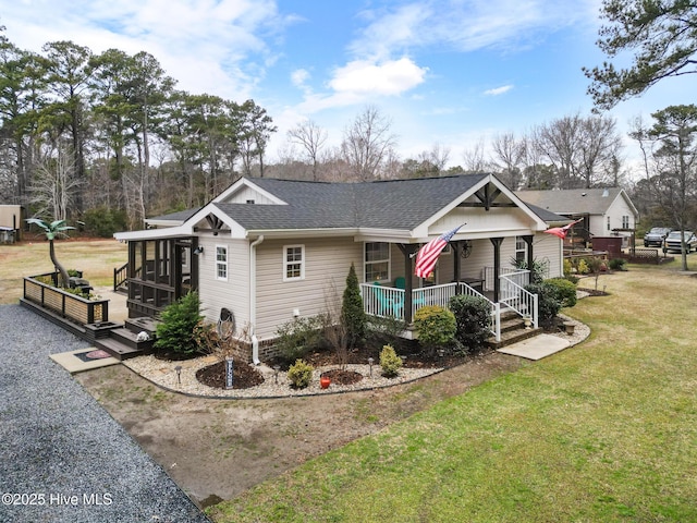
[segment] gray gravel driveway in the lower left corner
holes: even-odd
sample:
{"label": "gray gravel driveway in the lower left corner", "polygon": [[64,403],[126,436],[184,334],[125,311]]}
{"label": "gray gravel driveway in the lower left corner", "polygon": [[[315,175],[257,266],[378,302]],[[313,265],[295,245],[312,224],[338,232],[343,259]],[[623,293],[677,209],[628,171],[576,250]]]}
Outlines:
{"label": "gray gravel driveway in the lower left corner", "polygon": [[206,522],[164,471],[48,355],[88,346],[0,306],[0,522]]}

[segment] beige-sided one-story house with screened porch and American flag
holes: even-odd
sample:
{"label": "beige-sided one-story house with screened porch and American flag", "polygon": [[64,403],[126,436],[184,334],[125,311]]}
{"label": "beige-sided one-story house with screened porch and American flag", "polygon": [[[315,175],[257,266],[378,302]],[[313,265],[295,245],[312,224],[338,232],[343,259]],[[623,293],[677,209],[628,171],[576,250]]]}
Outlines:
{"label": "beige-sided one-story house with screened porch and American flag", "polygon": [[[341,300],[352,264],[368,314],[408,325],[423,304],[465,292],[487,295],[498,321],[500,302],[521,293],[496,275],[526,283],[518,259],[546,260],[548,276],[562,276],[561,240],[542,231],[568,221],[524,204],[491,174],[365,183],[243,178],[199,209],[114,236],[129,242],[130,317],[156,316],[197,290],[208,320],[224,308],[239,330],[247,327],[258,361],[280,325]],[[432,277],[413,276],[419,246],[460,224]]]}

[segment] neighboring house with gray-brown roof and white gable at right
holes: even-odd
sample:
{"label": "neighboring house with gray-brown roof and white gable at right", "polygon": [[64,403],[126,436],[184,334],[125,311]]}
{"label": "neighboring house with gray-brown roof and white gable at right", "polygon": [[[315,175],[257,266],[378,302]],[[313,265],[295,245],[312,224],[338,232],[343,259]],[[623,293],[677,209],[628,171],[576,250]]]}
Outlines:
{"label": "neighboring house with gray-brown roof and white gable at right", "polygon": [[[551,191],[516,191],[526,204],[536,205],[557,215],[572,219],[583,218],[574,228],[592,242],[594,236],[622,236],[622,247],[629,246],[633,231],[639,218],[627,193],[623,188],[573,188]],[[572,240],[571,236],[568,236]]]}

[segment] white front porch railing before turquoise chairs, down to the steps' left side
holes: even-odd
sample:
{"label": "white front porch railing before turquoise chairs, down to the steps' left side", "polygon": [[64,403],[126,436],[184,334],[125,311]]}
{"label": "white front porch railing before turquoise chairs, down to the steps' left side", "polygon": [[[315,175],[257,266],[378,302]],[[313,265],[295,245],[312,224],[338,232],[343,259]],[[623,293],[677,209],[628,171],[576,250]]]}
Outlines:
{"label": "white front porch railing before turquoise chairs, down to the steps' left side", "polygon": [[[416,311],[426,305],[439,305],[449,308],[450,299],[457,294],[457,285],[460,285],[461,294],[484,297],[489,303],[491,318],[489,330],[496,336],[497,341],[500,341],[501,307],[498,303],[491,302],[476,289],[463,282],[414,289],[412,291],[412,317],[414,317]],[[360,283],[360,296],[363,297],[363,307],[366,314],[404,320],[405,291],[403,289]]]}

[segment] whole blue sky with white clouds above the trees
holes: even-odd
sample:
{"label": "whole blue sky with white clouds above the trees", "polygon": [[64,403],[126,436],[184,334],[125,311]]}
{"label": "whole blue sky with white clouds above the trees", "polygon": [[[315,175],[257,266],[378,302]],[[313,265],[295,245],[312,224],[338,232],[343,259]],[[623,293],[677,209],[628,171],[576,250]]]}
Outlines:
{"label": "whole blue sky with white clouds above the trees", "polygon": [[[10,3],[5,0],[4,3]],[[23,49],[72,40],[95,53],[156,57],[178,88],[253,98],[279,132],[303,119],[339,145],[366,106],[392,122],[402,158],[438,144],[450,165],[497,134],[517,136],[591,100],[582,66],[602,62],[599,0],[17,0],[0,24]],[[610,113],[632,118],[694,101],[692,75]],[[627,141],[625,156],[635,153]]]}

